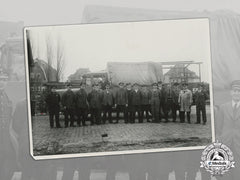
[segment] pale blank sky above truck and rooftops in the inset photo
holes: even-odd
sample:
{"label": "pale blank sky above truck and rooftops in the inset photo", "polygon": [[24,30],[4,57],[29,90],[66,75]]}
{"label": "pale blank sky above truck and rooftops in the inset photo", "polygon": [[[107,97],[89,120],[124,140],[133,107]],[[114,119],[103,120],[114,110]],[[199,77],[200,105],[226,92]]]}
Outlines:
{"label": "pale blank sky above truck and rooftops in the inset photo", "polygon": [[[46,60],[46,36],[65,46],[65,79],[78,68],[106,69],[107,62],[203,62],[202,80],[209,82],[208,19],[145,21],[29,28]],[[190,66],[198,73],[197,66]]]}

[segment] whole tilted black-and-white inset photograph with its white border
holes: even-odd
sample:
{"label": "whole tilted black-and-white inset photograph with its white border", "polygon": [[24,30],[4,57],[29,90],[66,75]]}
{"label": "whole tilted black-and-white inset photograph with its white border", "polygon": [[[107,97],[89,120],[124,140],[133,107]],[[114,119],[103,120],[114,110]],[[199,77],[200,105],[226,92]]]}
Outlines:
{"label": "whole tilted black-and-white inset photograph with its white border", "polygon": [[24,29],[34,159],[204,149],[208,18]]}

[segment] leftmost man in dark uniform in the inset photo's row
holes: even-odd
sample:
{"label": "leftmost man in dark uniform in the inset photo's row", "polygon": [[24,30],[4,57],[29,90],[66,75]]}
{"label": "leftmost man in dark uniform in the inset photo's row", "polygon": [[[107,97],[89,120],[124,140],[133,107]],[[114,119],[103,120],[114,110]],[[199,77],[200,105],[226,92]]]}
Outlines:
{"label": "leftmost man in dark uniform in the inset photo's row", "polygon": [[46,103],[49,112],[50,128],[54,127],[54,117],[56,127],[61,128],[59,123],[60,95],[56,92],[55,87],[52,87],[51,92],[47,95]]}

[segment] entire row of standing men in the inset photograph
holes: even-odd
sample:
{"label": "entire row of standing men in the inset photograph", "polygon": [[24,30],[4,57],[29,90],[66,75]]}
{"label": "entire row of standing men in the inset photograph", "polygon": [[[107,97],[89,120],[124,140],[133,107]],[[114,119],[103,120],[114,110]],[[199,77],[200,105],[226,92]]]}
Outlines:
{"label": "entire row of standing men in the inset photograph", "polygon": [[[81,83],[80,89],[74,93],[71,85],[67,85],[67,90],[62,97],[56,92],[55,88],[46,97],[46,103],[49,110],[50,127],[54,127],[54,117],[56,127],[60,128],[59,112],[60,104],[64,109],[65,127],[74,127],[75,116],[77,116],[77,125],[86,126],[88,114],[91,117],[91,125],[118,123],[120,114],[123,114],[125,123],[143,123],[144,117],[147,122],[160,123],[169,122],[169,112],[172,112],[172,121],[176,122],[177,111],[179,111],[180,123],[191,123],[190,113],[193,103],[193,94],[188,89],[188,84],[183,83],[179,89],[179,84],[163,85],[162,82],[154,83],[151,87],[139,84],[124,84],[120,82],[115,90],[106,84],[102,89],[99,84],[93,84],[92,91],[87,93],[86,85]],[[200,124],[200,112],[202,112],[203,124],[206,124],[205,101],[208,98],[203,86],[194,93],[197,112],[197,124]],[[113,110],[116,116],[113,118]],[[137,116],[136,116],[137,115]]]}

